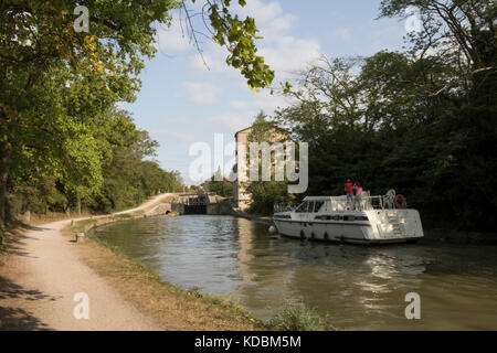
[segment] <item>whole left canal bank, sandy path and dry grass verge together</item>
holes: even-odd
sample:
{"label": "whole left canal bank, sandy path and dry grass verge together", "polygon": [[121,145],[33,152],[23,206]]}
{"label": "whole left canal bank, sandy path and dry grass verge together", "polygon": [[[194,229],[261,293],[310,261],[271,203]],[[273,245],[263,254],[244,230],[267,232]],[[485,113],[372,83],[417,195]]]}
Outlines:
{"label": "whole left canal bank, sandy path and dry grass verge together", "polygon": [[[126,220],[128,214],[137,216],[156,202],[110,217],[67,220],[15,232],[0,266],[0,329],[261,329],[263,323],[236,304],[169,285],[117,248],[110,250],[88,237],[74,242],[74,232]],[[88,320],[73,315],[77,293],[89,299]]]}

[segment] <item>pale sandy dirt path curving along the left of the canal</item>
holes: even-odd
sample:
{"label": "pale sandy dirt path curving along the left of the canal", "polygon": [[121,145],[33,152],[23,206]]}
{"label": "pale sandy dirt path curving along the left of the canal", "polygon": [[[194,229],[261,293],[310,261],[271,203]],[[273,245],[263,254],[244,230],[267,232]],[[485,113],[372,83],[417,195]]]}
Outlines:
{"label": "pale sandy dirt path curving along the left of the canal", "polygon": [[[158,195],[148,208],[170,194]],[[78,259],[75,244],[61,235],[72,220],[32,227],[13,239],[0,266],[0,330],[163,330],[123,299]],[[75,319],[76,293],[88,297],[89,318]],[[81,300],[81,299],[80,299]]]}

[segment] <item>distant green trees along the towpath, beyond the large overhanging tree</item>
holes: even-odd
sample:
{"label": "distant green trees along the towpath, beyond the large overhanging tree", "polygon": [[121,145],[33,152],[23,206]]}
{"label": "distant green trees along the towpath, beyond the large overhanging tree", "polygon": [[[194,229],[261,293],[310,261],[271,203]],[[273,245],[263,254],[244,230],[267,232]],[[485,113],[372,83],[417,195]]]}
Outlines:
{"label": "distant green trees along the towpath, beyond the large overhanging tree", "polygon": [[147,160],[155,156],[158,143],[147,131],[136,129],[127,111],[114,111],[106,121],[109,151],[101,161],[102,185],[98,191],[76,199],[62,179],[31,174],[30,178],[10,181],[9,214],[65,212],[77,210],[82,204],[93,212],[109,213],[139,204],[159,191],[180,189],[178,172],[163,171],[156,161]]}

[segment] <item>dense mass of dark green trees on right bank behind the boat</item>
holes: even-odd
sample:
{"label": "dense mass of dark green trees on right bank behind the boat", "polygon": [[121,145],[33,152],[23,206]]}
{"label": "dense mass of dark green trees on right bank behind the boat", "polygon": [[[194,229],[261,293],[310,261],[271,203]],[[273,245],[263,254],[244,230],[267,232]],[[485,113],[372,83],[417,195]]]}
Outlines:
{"label": "dense mass of dark green trees on right bank behind the boat", "polygon": [[410,4],[424,30],[406,52],[324,57],[286,87],[295,104],[273,120],[309,143],[307,194],[340,194],[350,178],[406,195],[425,226],[494,229],[496,8],[384,0],[381,14],[403,15]]}

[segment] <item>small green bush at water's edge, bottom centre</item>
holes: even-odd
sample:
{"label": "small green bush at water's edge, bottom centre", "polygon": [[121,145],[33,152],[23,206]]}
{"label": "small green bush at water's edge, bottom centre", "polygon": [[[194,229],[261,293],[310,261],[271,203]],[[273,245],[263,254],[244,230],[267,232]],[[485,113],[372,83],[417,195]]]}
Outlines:
{"label": "small green bush at water's edge, bottom centre", "polygon": [[325,331],[324,320],[304,303],[293,303],[278,312],[268,327],[281,331]]}

